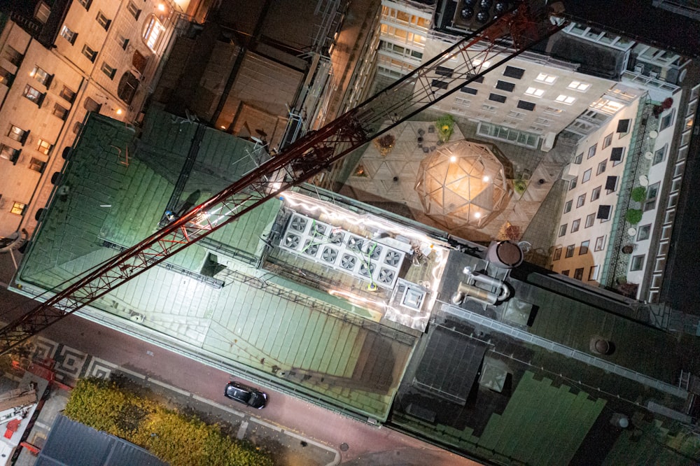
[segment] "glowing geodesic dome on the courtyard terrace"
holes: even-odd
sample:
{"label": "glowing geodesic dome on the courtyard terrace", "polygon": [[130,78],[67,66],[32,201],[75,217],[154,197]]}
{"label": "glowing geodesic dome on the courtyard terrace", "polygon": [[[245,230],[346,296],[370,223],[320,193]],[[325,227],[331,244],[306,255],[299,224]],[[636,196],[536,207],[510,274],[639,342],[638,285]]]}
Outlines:
{"label": "glowing geodesic dome on the courtyard terrace", "polygon": [[448,229],[481,228],[510,199],[505,171],[487,144],[458,141],[421,162],[416,182],[426,215]]}

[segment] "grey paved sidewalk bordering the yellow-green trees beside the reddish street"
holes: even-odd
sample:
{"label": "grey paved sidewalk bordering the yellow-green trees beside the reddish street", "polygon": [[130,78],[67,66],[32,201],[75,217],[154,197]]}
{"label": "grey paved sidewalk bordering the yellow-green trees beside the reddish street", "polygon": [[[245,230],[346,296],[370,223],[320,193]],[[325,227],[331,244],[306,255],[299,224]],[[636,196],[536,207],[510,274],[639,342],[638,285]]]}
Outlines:
{"label": "grey paved sidewalk bordering the yellow-green trees beside the reddish street", "polygon": [[[46,339],[43,340],[43,343],[50,343]],[[256,446],[270,451],[278,465],[330,466],[340,462],[339,451],[304,438],[278,425],[267,423],[255,417],[256,413],[247,409],[239,411],[236,409],[237,407],[207,400],[158,379],[124,367],[117,367],[108,361],[99,360],[99,358],[93,358],[90,355],[85,355],[83,358],[71,355],[63,361],[57,361],[55,368],[56,379],[61,383],[51,385],[50,393],[41,409],[38,410],[36,421],[33,425],[29,425],[30,430],[25,437],[25,442],[38,449],[41,449],[45,444],[57,414],[64,409],[70,397],[69,390],[61,388],[61,384],[72,386],[78,377],[97,376],[108,379],[115,374],[126,376],[134,383],[149,388],[171,406],[197,413],[208,423],[228,423],[233,432],[236,432],[237,438],[246,439]],[[27,374],[29,373],[27,372]],[[15,381],[15,383],[17,382]],[[43,386],[46,386],[45,383]],[[29,419],[27,418],[25,421],[28,422]],[[35,463],[36,456],[29,449],[22,448],[15,465],[32,466]]]}

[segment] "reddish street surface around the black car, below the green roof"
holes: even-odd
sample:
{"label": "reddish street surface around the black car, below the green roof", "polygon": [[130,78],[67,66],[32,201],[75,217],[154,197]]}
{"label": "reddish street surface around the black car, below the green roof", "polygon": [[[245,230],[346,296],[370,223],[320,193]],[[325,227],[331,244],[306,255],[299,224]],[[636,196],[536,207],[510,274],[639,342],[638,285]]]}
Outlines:
{"label": "reddish street surface around the black car, below the green roof", "polygon": [[[34,302],[0,288],[0,320],[10,321],[32,309]],[[209,367],[159,346],[111,330],[78,316],[68,316],[42,334],[134,372],[169,383],[221,404],[234,402],[223,397],[230,374]],[[437,449],[390,430],[339,416],[303,400],[266,389],[270,401],[251,416],[296,432],[341,452],[341,463],[351,465],[477,465],[466,458]],[[341,444],[349,446],[346,451]]]}

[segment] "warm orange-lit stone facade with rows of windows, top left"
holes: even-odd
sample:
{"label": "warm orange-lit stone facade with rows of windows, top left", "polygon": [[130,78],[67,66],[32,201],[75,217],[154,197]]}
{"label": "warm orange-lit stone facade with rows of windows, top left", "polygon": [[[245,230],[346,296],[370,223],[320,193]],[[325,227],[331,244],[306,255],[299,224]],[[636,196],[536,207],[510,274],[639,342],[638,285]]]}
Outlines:
{"label": "warm orange-lit stone facade with rows of windows, top left", "polygon": [[[6,24],[0,34],[5,71],[0,72],[10,79],[0,78],[0,143],[22,152],[13,157],[6,150],[0,159],[0,237],[34,231],[36,211],[48,202],[51,178],[61,171],[64,148],[72,145],[87,111],[139,122],[181,20],[179,6],[167,0],[76,0],[50,48],[18,24]],[[14,53],[10,47],[20,52],[19,66],[7,59]],[[35,66],[50,75],[48,85],[38,80],[43,73],[32,74]],[[28,99],[27,91],[38,99]],[[11,125],[29,134],[15,141],[8,136]]]}

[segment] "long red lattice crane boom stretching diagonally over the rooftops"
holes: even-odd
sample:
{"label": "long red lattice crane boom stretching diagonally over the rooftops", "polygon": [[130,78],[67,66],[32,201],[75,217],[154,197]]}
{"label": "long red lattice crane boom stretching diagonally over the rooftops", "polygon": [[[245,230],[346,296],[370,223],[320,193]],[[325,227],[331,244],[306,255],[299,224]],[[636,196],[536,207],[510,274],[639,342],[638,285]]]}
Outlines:
{"label": "long red lattice crane boom stretching diagonally over the rooftops", "polygon": [[144,241],[94,267],[0,329],[0,353],[7,353],[45,327],[237,220],[268,199],[279,197],[284,191],[309,180],[352,150],[554,34],[564,24],[552,22],[550,13],[552,11],[547,8],[533,11],[528,3],[521,3],[363,104],[318,131],[308,132],[225,190]]}

